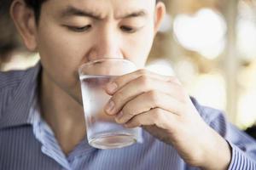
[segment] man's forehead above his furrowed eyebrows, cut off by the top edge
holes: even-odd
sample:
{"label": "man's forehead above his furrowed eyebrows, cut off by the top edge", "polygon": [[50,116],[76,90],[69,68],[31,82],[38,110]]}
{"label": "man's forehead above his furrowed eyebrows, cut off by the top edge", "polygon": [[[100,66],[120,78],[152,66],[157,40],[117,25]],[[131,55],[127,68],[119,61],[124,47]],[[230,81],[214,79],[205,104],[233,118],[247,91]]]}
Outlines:
{"label": "man's forehead above his furrowed eyebrows, cut off by the top edge", "polygon": [[43,4],[42,10],[51,13],[61,13],[67,8],[90,10],[102,16],[108,14],[123,14],[144,10],[154,13],[155,0],[49,0]]}

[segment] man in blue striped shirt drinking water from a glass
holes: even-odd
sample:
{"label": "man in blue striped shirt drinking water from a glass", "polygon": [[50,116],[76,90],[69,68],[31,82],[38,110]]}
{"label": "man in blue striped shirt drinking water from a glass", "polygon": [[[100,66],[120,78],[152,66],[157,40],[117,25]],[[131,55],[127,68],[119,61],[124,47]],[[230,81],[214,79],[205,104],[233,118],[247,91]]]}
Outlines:
{"label": "man in blue striped shirt drinking water from a glass", "polygon": [[164,3],[15,0],[11,14],[41,61],[0,75],[1,169],[256,169],[253,139],[191,100],[175,77],[143,69],[107,85],[105,108],[125,127],[143,127],[143,141],[97,150],[85,139],[79,65],[115,56],[143,67]]}

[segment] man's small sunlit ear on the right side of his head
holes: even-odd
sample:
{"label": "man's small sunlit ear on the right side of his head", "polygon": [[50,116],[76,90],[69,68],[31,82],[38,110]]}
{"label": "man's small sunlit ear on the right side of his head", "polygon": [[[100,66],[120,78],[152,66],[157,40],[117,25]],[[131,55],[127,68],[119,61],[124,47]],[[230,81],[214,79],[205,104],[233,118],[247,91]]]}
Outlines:
{"label": "man's small sunlit ear on the right side of his head", "polygon": [[166,5],[165,3],[158,2],[155,5],[155,12],[154,12],[154,35],[160,28],[161,22],[166,15]]}

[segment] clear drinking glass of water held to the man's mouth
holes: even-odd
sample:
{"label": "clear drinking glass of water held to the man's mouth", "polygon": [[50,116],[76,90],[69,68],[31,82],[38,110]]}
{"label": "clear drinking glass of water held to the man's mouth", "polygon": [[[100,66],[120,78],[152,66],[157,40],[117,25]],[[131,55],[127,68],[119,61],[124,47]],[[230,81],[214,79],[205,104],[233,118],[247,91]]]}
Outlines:
{"label": "clear drinking glass of water held to the man's mouth", "polygon": [[125,128],[108,116],[104,107],[111,98],[105,91],[108,82],[133,71],[136,66],[126,59],[104,58],[81,65],[84,116],[89,144],[99,149],[122,148],[137,142],[139,128]]}

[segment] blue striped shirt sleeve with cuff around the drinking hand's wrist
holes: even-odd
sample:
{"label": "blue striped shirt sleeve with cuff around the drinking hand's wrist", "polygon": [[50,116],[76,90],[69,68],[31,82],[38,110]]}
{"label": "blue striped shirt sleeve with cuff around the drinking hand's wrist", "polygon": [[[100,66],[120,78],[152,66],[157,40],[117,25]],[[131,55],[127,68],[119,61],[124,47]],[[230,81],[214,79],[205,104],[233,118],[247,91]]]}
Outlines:
{"label": "blue striped shirt sleeve with cuff around the drinking hand's wrist", "polygon": [[230,144],[229,170],[256,170],[256,140],[227,121],[221,111],[196,105],[202,118]]}

